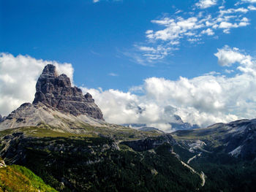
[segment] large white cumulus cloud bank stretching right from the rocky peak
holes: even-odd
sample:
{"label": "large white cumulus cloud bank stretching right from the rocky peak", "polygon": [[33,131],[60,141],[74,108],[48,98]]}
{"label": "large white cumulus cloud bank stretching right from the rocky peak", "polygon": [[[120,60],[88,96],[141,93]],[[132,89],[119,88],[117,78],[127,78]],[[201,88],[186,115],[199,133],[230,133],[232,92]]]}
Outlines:
{"label": "large white cumulus cloud bank stretching right from the rocky peak", "polygon": [[[128,92],[88,89],[111,123],[146,123],[163,131],[173,131],[169,122],[179,115],[185,122],[208,126],[239,118],[255,118],[256,63],[250,55],[228,46],[215,55],[221,66],[238,63],[234,77],[210,72],[178,80],[150,77]],[[225,70],[233,72],[232,69]],[[139,91],[140,95],[132,91]]]}

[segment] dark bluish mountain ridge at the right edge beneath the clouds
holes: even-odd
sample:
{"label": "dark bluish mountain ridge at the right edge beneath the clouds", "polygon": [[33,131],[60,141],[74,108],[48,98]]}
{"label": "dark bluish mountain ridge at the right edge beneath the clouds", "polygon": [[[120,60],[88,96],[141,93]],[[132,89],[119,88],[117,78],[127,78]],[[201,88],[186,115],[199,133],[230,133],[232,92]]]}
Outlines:
{"label": "dark bluish mountain ridge at the right edge beneath the clouds", "polygon": [[224,153],[233,157],[256,160],[256,119],[217,123],[196,130],[175,131],[173,136],[177,139],[191,138],[187,139],[188,142],[202,140],[211,143],[211,150],[219,150],[221,147]]}

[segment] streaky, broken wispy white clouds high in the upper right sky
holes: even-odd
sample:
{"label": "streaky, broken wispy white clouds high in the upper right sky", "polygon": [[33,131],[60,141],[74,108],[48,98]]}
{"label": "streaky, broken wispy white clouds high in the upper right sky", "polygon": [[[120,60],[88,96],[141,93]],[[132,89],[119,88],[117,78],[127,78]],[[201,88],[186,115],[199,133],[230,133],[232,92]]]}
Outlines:
{"label": "streaky, broken wispy white clouds high in the upper right sky", "polygon": [[[197,2],[197,7],[203,9],[203,6],[207,8],[215,4],[217,1],[202,0]],[[173,54],[174,50],[181,49],[186,42],[200,44],[206,37],[218,39],[220,34],[230,34],[233,28],[249,26],[246,14],[254,10],[256,7],[252,5],[226,9],[222,4],[217,7],[217,12],[211,14],[194,10],[189,14],[178,12],[178,15],[151,20],[160,29],[146,30],[146,42],[135,44],[137,50],[130,55],[138,64],[152,65]]]}

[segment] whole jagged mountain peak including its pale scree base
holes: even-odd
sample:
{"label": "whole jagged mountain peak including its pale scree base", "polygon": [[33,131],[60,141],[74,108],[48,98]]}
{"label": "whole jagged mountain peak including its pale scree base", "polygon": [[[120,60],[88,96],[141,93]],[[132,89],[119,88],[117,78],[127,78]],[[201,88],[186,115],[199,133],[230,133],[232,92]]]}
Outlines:
{"label": "whole jagged mountain peak including its pale scree base", "polygon": [[47,124],[61,131],[79,132],[88,125],[108,126],[91,94],[83,95],[66,74],[58,75],[53,65],[45,66],[36,90],[32,104],[21,104],[6,118],[0,117],[0,130]]}

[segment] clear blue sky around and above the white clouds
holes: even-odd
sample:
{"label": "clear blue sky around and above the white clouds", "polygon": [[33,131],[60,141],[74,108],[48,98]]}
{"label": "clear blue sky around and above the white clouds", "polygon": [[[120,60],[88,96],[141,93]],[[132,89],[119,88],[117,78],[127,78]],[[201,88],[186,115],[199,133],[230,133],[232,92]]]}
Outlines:
{"label": "clear blue sky around and above the white clouds", "polygon": [[[198,44],[181,39],[164,59],[138,63],[135,45],[147,43],[147,30],[163,27],[151,20],[178,16],[188,12],[214,14],[216,6],[200,9],[197,1],[1,1],[1,52],[31,55],[34,58],[71,63],[75,82],[90,88],[118,88],[127,91],[147,77],[195,77],[210,71],[221,71],[213,53],[223,45],[239,47],[254,54],[255,13],[245,14],[250,25],[217,30],[211,37],[201,37]],[[235,7],[236,1],[228,1]],[[246,5],[243,7],[247,7]],[[236,7],[235,7],[236,8]],[[195,9],[195,10],[193,10]],[[175,14],[178,10],[182,12]],[[218,39],[214,39],[218,37]],[[196,38],[196,37],[195,37]],[[234,41],[234,39],[236,39]],[[161,44],[161,42],[157,42]],[[157,43],[154,46],[157,46]],[[171,46],[170,46],[171,47]],[[108,74],[118,74],[111,77]]]}

